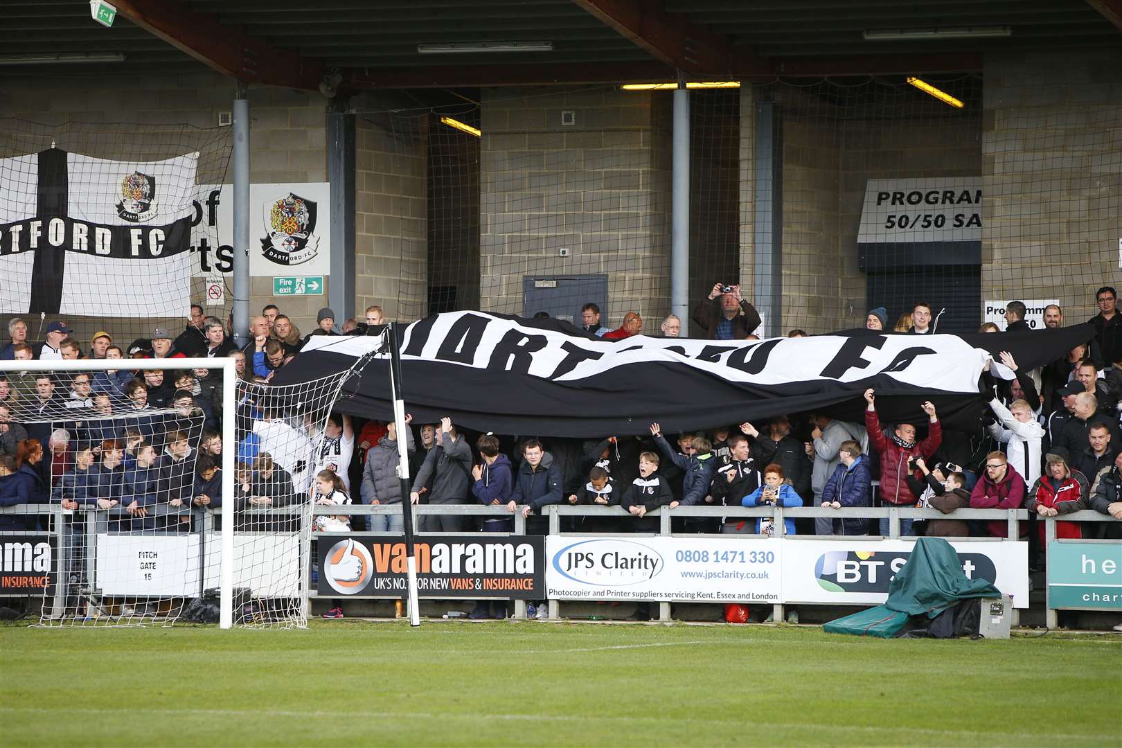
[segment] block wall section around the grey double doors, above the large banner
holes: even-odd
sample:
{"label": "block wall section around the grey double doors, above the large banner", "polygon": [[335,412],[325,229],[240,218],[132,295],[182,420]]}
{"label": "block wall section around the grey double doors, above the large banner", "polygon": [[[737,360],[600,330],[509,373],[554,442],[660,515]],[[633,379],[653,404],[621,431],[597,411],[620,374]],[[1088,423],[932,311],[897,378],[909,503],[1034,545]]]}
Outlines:
{"label": "block wall section around the grey double doors, above the large banner", "polygon": [[484,90],[481,112],[482,306],[522,314],[526,276],[606,274],[604,324],[636,311],[657,330],[670,306],[670,95]]}

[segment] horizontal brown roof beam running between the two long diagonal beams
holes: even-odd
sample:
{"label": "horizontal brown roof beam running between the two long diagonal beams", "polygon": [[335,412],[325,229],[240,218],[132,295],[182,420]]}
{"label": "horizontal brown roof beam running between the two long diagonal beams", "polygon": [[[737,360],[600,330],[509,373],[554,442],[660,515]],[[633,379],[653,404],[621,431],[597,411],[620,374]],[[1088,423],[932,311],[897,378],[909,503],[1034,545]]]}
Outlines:
{"label": "horizontal brown roof beam running between the two long diagonal beams", "polygon": [[454,67],[415,65],[397,70],[344,70],[341,72],[343,74],[341,92],[371,89],[656,83],[674,80],[672,68],[653,61],[564,65],[458,65]]}

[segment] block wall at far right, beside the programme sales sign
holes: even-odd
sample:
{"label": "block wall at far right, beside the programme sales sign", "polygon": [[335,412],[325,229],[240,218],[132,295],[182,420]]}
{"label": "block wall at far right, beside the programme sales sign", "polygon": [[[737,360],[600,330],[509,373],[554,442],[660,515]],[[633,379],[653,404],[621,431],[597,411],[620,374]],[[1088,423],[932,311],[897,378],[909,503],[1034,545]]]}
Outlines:
{"label": "block wall at far right, beside the programme sales sign", "polygon": [[1118,286],[1122,49],[986,55],[983,298],[1059,298],[1065,324]]}

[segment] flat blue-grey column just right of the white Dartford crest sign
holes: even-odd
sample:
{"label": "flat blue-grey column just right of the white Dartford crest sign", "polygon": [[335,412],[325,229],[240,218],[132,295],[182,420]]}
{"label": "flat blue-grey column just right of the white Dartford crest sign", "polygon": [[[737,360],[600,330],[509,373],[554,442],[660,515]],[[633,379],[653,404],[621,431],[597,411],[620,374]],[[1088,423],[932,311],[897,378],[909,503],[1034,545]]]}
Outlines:
{"label": "flat blue-grey column just right of the white Dartford crest sign", "polygon": [[328,183],[331,185],[331,278],[328,306],[343,320],[355,314],[355,116],[328,112]]}

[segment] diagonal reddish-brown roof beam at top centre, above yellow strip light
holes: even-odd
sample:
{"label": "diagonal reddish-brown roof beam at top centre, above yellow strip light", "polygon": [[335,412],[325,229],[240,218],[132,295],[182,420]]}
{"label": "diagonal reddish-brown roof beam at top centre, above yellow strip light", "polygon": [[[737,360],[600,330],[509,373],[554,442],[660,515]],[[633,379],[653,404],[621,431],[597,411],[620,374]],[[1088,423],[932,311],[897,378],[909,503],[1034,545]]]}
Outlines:
{"label": "diagonal reddish-brown roof beam at top centre, above yellow strip light", "polygon": [[[693,75],[727,73],[734,67],[730,37],[668,13],[661,0],[573,0],[573,2],[645,49],[655,59]],[[744,61],[741,61],[742,66]]]}

